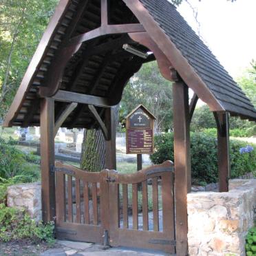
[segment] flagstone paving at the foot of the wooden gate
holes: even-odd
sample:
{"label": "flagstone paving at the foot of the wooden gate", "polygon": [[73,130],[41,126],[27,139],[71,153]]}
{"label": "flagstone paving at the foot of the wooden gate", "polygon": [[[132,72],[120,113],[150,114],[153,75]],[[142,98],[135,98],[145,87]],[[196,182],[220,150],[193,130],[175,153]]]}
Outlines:
{"label": "flagstone paving at the foot of the wooden gate", "polygon": [[[159,252],[130,250],[128,248],[105,248],[97,244],[57,240],[56,248],[46,250],[41,256],[152,256],[167,255]],[[58,248],[59,245],[59,248]]]}

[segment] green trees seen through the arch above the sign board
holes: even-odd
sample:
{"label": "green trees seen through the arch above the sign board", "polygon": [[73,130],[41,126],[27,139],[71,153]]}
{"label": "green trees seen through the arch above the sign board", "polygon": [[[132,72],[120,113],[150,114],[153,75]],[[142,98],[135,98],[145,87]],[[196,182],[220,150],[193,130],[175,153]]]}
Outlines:
{"label": "green trees seen through the arch above the sign board", "polygon": [[156,116],[156,131],[167,131],[173,120],[172,99],[171,83],[162,77],[156,61],[146,63],[125,87],[120,103],[120,122],[142,104]]}

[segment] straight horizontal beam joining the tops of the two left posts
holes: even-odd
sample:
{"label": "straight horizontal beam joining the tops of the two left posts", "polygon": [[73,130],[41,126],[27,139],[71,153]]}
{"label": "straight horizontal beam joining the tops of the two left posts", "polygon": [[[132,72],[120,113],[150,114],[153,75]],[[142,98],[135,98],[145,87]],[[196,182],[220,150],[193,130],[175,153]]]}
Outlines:
{"label": "straight horizontal beam joining the tops of the two left posts", "polygon": [[58,92],[52,97],[54,100],[65,101],[70,103],[81,103],[95,105],[98,107],[110,107],[110,102],[107,98],[92,96],[87,94],[78,94],[76,92],[67,92],[58,90]]}

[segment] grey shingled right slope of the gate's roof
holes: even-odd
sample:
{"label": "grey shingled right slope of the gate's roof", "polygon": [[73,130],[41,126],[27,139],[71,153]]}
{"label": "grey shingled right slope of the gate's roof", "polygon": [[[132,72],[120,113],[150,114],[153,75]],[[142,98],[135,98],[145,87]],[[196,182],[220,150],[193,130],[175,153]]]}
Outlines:
{"label": "grey shingled right slope of the gate's roof", "polygon": [[211,50],[167,0],[140,0],[226,111],[256,118],[256,110]]}

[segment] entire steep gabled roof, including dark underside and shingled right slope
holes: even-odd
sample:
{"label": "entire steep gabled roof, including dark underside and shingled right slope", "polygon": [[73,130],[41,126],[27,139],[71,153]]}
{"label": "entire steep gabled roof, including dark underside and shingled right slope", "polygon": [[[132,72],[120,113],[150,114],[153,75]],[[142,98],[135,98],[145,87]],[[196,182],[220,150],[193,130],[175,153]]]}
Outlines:
{"label": "entire steep gabled roof, including dark underside and shingled right slope", "polygon": [[[129,43],[138,50],[150,50],[131,39],[131,33],[143,31],[211,111],[229,111],[256,120],[256,111],[242,89],[169,1],[109,0],[111,33],[105,27],[99,29],[100,3],[60,1],[6,116],[5,126],[40,125],[41,92],[54,85],[64,92],[97,96],[110,105],[118,104],[129,78],[143,63],[155,60],[153,54],[143,59],[122,49],[123,44]],[[127,32],[120,32],[127,24]],[[97,36],[98,32],[102,34]],[[68,104],[55,100],[55,118]],[[104,119],[105,108],[98,106],[96,110]],[[87,105],[79,103],[62,127],[98,125]]]}

